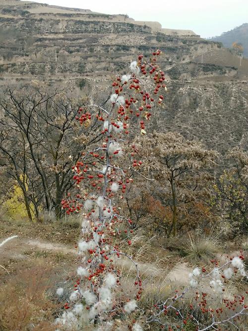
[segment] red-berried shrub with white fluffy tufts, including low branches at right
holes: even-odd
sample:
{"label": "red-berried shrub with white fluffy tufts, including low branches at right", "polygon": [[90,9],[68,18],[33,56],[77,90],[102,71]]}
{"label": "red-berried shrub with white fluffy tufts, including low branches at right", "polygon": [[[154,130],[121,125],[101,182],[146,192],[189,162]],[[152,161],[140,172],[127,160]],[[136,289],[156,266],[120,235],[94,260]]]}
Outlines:
{"label": "red-berried shrub with white fluffy tufts, including low branches at right", "polygon": [[[87,105],[77,116],[80,120],[96,109],[102,139],[83,152],[72,167],[75,186],[62,199],[62,209],[67,214],[81,212],[82,223],[81,239],[77,245],[80,265],[74,288],[64,303],[64,312],[56,320],[59,330],[82,330],[91,326],[99,331],[141,331],[142,321],[145,321],[152,327],[157,325],[167,330],[185,330],[191,323],[193,330],[203,331],[234,323],[237,317],[246,314],[247,306],[242,296],[239,308],[222,319],[219,310],[216,315],[212,308],[206,306],[206,295],[201,289],[202,281],[206,279],[207,286],[219,297],[225,289],[222,279],[228,281],[237,273],[245,276],[243,255],[221,266],[215,261],[209,272],[205,268],[194,268],[189,275],[188,287],[181,293],[178,290],[172,298],[158,301],[154,312],[150,307],[149,316],[138,307],[143,291],[141,275],[137,263],[123,249],[132,245],[134,229],[132,219],[125,216],[121,202],[133,182],[133,171],[139,173],[138,169],[142,167],[138,146],[132,142],[131,134],[136,133],[135,127],[138,127],[140,134],[145,135],[145,124],[152,116],[153,105],[163,104],[162,91],[166,86],[165,73],[157,61],[160,55],[160,50],[154,52],[150,60],[139,55],[138,61],[130,64],[130,73],[114,80],[108,104],[104,107]],[[149,180],[141,173],[140,176]],[[135,274],[129,284],[125,283],[119,259],[128,259],[134,267]],[[178,303],[184,304],[192,288],[197,288],[202,297],[196,309],[192,306],[195,311],[190,313],[180,308]],[[57,289],[61,298],[64,298],[63,292],[62,287]],[[199,294],[196,295],[199,300]],[[206,311],[207,318],[198,314],[199,310],[202,313]]]}

